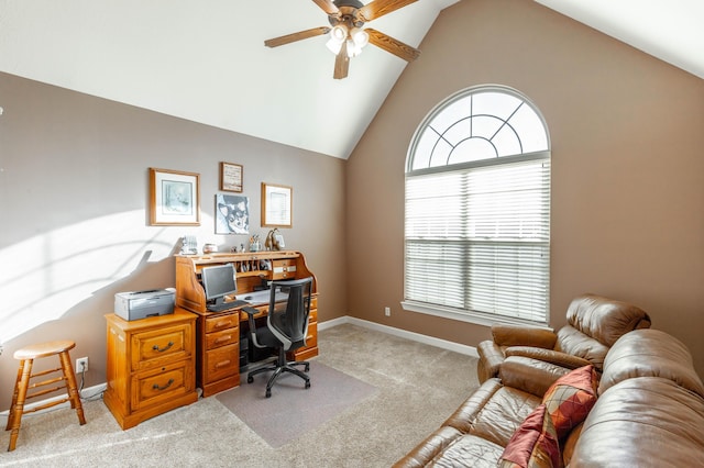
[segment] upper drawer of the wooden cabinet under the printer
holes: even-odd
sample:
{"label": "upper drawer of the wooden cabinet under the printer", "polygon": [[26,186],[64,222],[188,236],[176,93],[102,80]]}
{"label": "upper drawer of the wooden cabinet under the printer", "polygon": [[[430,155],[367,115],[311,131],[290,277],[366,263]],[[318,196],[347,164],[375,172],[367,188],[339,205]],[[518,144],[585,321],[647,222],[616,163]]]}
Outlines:
{"label": "upper drawer of the wooden cabinet under the printer", "polygon": [[132,335],[132,370],[163,366],[190,356],[193,327],[189,324]]}

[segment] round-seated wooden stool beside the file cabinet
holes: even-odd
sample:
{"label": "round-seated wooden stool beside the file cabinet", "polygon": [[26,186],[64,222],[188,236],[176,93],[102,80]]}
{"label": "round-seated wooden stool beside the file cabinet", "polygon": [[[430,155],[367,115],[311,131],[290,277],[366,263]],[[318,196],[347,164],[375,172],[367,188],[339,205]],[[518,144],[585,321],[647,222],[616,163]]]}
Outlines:
{"label": "round-seated wooden stool beside the file cabinet", "polygon": [[[14,450],[14,446],[18,442],[18,435],[20,434],[20,422],[22,421],[22,414],[32,413],[34,411],[44,410],[46,408],[55,406],[57,404],[70,401],[70,408],[75,409],[78,413],[78,422],[80,423],[80,425],[86,424],[84,406],[80,404],[80,395],[78,394],[78,386],[76,385],[76,375],[74,374],[74,367],[70,365],[70,356],[68,355],[68,350],[73,349],[74,347],[76,347],[76,343],[63,341],[28,346],[14,352],[14,358],[20,360],[20,369],[18,370],[18,380],[14,383],[14,393],[12,394],[12,405],[10,406],[10,415],[8,416],[8,425],[4,428],[6,431],[12,430],[12,433],[10,434],[10,446],[8,447],[8,452]],[[34,364],[34,359],[55,355],[58,355],[61,367],[57,367],[56,369],[44,370],[37,374],[32,374],[32,365]],[[33,377],[45,376],[47,374],[54,374],[59,370],[63,372],[62,376],[54,376],[47,380],[30,385],[30,379]],[[48,389],[40,390],[32,394],[28,394],[28,390],[30,389],[55,383],[58,385]],[[61,390],[63,388],[67,389],[66,398],[24,411],[24,402],[30,398],[41,397],[47,393],[52,393],[56,390]]]}

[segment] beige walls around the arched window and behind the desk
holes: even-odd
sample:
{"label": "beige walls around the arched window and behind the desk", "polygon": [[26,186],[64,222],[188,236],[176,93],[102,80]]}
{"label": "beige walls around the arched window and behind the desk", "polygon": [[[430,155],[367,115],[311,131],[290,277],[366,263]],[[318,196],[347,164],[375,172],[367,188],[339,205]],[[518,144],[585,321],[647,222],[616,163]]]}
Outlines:
{"label": "beige walls around the arched window and behind the desk", "polygon": [[[212,234],[221,160],[244,166],[253,233],[266,231],[260,182],[294,187],[284,234],[318,276],[322,321],[349,313],[486,338],[486,327],[399,307],[408,143],[436,103],[482,83],[520,90],[550,129],[552,325],[579,293],[628,300],[685,342],[704,375],[704,82],[524,0],[463,0],[420,48],[346,164],[0,74],[0,410],[13,349],[70,337],[73,356],[90,358],[87,386],[103,382],[113,294],[173,286],[184,234],[244,239]],[[200,227],[146,225],[148,167],[201,175]],[[26,330],[8,338],[19,322]]]}

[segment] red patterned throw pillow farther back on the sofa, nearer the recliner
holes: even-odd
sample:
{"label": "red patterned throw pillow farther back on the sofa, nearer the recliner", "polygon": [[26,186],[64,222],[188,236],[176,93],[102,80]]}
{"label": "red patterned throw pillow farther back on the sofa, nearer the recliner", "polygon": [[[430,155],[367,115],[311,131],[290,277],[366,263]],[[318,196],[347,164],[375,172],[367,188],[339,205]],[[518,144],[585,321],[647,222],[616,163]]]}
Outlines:
{"label": "red patterned throw pillow farther back on the sofa, nearer the recliner", "polygon": [[586,419],[596,403],[597,383],[594,366],[584,366],[560,377],[542,397],[559,439]]}

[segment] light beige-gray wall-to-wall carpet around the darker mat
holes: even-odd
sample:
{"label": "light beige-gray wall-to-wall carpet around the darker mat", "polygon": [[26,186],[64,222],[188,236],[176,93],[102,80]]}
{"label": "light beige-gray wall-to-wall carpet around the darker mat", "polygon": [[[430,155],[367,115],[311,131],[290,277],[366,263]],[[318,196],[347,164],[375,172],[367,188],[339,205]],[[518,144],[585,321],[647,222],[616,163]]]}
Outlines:
{"label": "light beige-gray wall-to-wall carpet around the darker mat", "polygon": [[23,417],[11,453],[0,431],[0,467],[389,467],[479,387],[476,359],[355,325],[320,332],[319,347],[316,361],[378,391],[278,448],[217,398],[128,431],[98,400],[84,426],[67,409]]}

